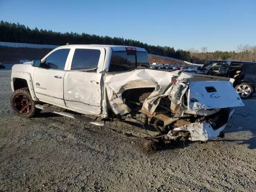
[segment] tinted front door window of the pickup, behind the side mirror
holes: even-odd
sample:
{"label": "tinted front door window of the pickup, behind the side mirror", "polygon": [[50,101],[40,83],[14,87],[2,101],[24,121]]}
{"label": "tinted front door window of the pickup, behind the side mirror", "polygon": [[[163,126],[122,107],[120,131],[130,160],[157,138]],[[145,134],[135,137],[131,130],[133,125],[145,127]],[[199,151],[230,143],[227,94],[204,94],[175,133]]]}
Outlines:
{"label": "tinted front door window of the pickup, behind the side mirror", "polygon": [[58,49],[52,52],[42,63],[43,68],[64,70],[70,49]]}

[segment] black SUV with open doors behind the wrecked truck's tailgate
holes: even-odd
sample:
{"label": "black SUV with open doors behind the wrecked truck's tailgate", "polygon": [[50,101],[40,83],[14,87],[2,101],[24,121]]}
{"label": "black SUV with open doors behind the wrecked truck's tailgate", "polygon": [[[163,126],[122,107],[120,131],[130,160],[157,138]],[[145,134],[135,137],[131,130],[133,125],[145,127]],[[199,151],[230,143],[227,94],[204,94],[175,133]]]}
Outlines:
{"label": "black SUV with open doors behind the wrecked truck's tailgate", "polygon": [[250,98],[256,90],[256,62],[208,61],[196,73],[234,78],[234,88],[242,99]]}

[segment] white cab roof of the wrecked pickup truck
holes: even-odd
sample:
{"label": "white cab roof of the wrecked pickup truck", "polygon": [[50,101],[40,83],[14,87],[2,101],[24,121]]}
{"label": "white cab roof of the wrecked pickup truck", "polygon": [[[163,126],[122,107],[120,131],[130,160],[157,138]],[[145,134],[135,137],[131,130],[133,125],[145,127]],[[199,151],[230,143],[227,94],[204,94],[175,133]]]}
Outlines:
{"label": "white cab roof of the wrecked pickup truck", "polygon": [[[90,47],[101,47],[101,48],[111,48],[113,51],[126,51],[126,47],[134,47],[134,46],[121,46],[121,45],[64,45],[59,46],[58,48],[65,47],[74,47],[74,48],[90,48]],[[140,47],[134,47],[137,51],[146,52],[146,49]]]}

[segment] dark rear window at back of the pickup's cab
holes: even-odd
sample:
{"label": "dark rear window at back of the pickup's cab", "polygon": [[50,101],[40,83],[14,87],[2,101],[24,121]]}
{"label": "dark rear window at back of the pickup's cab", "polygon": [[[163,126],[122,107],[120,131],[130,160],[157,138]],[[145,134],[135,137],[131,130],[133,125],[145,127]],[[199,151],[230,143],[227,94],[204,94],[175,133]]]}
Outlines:
{"label": "dark rear window at back of the pickup's cab", "polygon": [[108,72],[128,71],[138,66],[149,66],[146,52],[113,51]]}

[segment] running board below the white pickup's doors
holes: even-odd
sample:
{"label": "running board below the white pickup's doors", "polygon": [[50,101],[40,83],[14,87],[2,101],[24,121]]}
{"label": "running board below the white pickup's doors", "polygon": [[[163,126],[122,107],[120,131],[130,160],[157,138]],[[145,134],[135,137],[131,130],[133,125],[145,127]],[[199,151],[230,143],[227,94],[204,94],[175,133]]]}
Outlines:
{"label": "running board below the white pickup's doors", "polygon": [[51,112],[51,113],[55,113],[55,114],[58,114],[58,115],[61,115],[61,116],[65,116],[65,117],[69,117],[69,118],[72,118],[72,119],[80,120],[82,122],[89,122],[91,124],[98,125],[98,126],[104,126],[105,125],[105,122],[103,122],[103,121],[94,120],[93,118],[84,117],[84,116],[81,116],[81,115],[78,115],[78,114],[72,114],[72,113],[68,113],[68,112],[64,112],[64,111],[54,110],[53,108],[50,108],[48,106],[43,106],[43,105],[40,105],[40,104],[36,104],[35,107],[38,108],[38,109],[41,109],[41,110],[45,110],[47,112]]}

